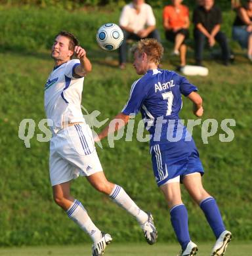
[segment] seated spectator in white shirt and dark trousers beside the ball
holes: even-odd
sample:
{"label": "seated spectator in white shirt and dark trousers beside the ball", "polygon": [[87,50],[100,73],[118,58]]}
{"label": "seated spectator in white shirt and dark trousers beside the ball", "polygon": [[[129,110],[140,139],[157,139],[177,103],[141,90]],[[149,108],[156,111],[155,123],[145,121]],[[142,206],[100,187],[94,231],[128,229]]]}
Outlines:
{"label": "seated spectator in white shirt and dark trousers beside the ball", "polygon": [[123,43],[119,47],[119,68],[124,69],[127,60],[127,39],[138,41],[151,37],[160,42],[156,19],[152,7],[144,3],[144,0],[133,0],[125,5],[119,18],[119,26],[123,30]]}

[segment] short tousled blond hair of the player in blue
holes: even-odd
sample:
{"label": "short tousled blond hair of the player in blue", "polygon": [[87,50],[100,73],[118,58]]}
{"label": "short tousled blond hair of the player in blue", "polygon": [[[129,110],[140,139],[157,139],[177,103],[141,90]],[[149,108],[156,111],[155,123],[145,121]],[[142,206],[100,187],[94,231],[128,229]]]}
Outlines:
{"label": "short tousled blond hair of the player in blue", "polygon": [[157,65],[160,63],[160,60],[163,56],[163,46],[158,42],[157,39],[154,38],[146,38],[138,41],[131,48],[131,52],[133,54],[136,51],[138,51],[139,54],[146,53],[148,60],[150,62],[154,62]]}

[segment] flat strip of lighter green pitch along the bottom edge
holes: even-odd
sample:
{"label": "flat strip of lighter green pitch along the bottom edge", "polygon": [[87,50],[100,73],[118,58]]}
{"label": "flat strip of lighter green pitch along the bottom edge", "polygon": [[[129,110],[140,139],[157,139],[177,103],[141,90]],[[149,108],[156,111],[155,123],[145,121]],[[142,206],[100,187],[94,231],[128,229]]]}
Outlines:
{"label": "flat strip of lighter green pitch along the bottom edge", "polygon": [[[212,244],[198,244],[197,256],[209,256]],[[228,245],[225,256],[249,256],[252,245],[246,242],[234,242]],[[111,244],[106,249],[106,256],[176,256],[179,245],[156,244]],[[44,247],[21,247],[0,249],[1,256],[88,256],[91,255],[90,245],[62,245]]]}

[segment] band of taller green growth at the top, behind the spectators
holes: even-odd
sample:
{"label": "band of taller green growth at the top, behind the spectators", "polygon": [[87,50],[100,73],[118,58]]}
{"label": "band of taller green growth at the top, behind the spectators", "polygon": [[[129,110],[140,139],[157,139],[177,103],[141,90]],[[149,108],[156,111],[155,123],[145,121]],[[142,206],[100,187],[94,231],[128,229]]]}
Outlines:
{"label": "band of taller green growth at the top, behind the spectators", "polygon": [[[87,49],[96,44],[96,31],[106,22],[118,23],[121,9],[113,11],[103,9],[82,10],[73,12],[62,8],[50,7],[1,7],[0,6],[0,47],[12,51],[33,51],[50,49],[54,35],[60,30],[69,30],[77,35]],[[157,26],[164,39],[161,12],[154,9]],[[224,12],[222,30],[231,37],[234,12]],[[190,26],[192,30],[192,24]],[[192,38],[192,33],[191,33]]]}

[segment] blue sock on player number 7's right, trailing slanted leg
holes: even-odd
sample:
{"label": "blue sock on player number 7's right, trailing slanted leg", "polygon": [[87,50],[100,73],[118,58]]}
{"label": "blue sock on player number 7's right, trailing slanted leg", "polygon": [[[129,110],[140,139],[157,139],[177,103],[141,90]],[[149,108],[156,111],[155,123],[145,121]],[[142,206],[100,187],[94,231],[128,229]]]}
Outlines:
{"label": "blue sock on player number 7's right, trailing slanted leg", "polygon": [[221,213],[215,198],[210,197],[202,200],[200,207],[205,213],[205,217],[207,218],[216,238],[219,238],[220,234],[226,230],[226,228],[222,221]]}

